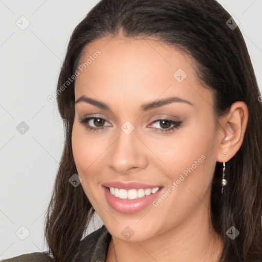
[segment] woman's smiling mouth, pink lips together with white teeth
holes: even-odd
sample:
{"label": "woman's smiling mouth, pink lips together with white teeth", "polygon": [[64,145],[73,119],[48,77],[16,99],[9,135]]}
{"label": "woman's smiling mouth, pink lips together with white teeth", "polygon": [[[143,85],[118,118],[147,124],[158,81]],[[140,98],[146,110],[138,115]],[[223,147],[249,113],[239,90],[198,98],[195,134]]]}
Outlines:
{"label": "woman's smiling mouth, pink lips together with white teeth", "polygon": [[102,187],[108,205],[115,211],[126,214],[139,212],[148,207],[163,190],[162,186],[130,189],[112,186]]}

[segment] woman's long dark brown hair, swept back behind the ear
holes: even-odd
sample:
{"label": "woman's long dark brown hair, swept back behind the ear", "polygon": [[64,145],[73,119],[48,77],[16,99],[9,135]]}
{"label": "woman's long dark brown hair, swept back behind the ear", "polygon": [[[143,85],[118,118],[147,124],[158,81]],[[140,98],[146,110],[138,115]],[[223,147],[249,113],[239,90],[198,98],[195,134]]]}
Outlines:
{"label": "woman's long dark brown hair, swept back behind the ear", "polygon": [[[238,27],[232,30],[226,24],[230,17],[214,0],[102,0],[75,28],[57,84],[65,142],[45,228],[55,261],[70,261],[94,213],[82,187],[69,183],[77,173],[71,145],[74,81],[62,92],[60,87],[75,73],[86,45],[103,36],[114,37],[120,30],[126,37],[154,37],[190,54],[203,86],[214,92],[217,117],[235,101],[247,104],[246,134],[226,164],[228,185],[223,195],[222,163],[216,163],[211,217],[225,244],[221,261],[262,261],[262,106],[243,36]],[[240,232],[233,240],[226,234],[231,226]]]}

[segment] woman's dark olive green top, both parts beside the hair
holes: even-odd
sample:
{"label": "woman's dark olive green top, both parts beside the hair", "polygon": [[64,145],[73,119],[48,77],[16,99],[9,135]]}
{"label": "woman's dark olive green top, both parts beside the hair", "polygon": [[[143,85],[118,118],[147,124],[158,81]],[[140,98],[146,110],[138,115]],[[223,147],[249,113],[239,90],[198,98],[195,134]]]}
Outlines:
{"label": "woman's dark olive green top, both parts beside the hair", "polygon": [[[75,252],[72,262],[105,262],[107,249],[111,241],[111,234],[103,225],[98,230],[84,237]],[[15,256],[1,262],[54,262],[47,253],[30,253]]]}

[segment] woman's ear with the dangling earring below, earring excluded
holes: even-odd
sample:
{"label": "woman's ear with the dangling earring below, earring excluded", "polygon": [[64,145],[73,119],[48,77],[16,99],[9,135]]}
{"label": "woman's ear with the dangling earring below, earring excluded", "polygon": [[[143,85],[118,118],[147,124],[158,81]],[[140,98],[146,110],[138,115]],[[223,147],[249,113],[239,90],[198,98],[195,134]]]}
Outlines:
{"label": "woman's ear with the dangling earring below, earring excluded", "polygon": [[248,107],[245,102],[234,102],[229,113],[220,120],[219,147],[216,161],[229,161],[241,147],[248,123]]}

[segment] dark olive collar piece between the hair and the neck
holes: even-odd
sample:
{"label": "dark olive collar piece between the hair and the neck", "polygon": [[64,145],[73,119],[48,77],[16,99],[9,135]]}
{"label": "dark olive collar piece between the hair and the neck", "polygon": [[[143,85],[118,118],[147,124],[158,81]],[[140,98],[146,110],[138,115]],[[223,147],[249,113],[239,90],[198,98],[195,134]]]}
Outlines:
{"label": "dark olive collar piece between the hair and the neck", "polygon": [[73,262],[105,261],[111,234],[103,225],[98,230],[84,237],[80,242]]}

